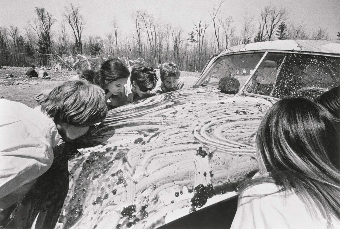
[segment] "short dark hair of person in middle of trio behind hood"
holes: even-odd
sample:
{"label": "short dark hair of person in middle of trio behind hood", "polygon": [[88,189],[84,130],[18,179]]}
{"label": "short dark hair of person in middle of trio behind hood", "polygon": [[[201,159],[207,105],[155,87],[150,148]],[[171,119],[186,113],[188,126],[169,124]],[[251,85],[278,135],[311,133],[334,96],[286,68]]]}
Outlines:
{"label": "short dark hair of person in middle of trio behind hood", "polygon": [[131,85],[133,85],[133,81],[135,81],[139,87],[146,87],[153,84],[152,89],[155,88],[158,81],[158,77],[155,72],[156,70],[153,69],[153,67],[141,64],[132,66],[130,77]]}

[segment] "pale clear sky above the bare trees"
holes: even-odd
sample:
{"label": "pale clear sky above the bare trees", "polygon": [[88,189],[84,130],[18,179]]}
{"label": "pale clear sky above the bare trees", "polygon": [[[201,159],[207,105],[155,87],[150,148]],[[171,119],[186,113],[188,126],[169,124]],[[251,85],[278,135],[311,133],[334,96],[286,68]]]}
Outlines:
{"label": "pale clear sky above the bare trees", "polygon": [[[28,20],[36,17],[35,6],[44,7],[57,22],[53,31],[57,32],[62,22],[61,13],[70,0],[0,0],[0,27],[15,25],[24,33]],[[112,20],[116,18],[118,33],[129,34],[134,30],[133,12],[146,10],[154,18],[162,18],[165,23],[180,27],[183,34],[193,31],[194,24],[202,20],[210,22],[209,13],[220,0],[71,0],[80,5],[80,12],[86,24],[83,35],[100,35],[112,33]],[[337,39],[340,31],[340,0],[224,0],[221,12],[224,17],[231,16],[237,33],[241,31],[241,20],[248,10],[256,14],[253,23],[258,24],[259,12],[271,2],[277,7],[285,7],[289,13],[288,21],[304,22],[309,30],[326,28],[331,39]],[[207,32],[213,31],[213,25]]]}

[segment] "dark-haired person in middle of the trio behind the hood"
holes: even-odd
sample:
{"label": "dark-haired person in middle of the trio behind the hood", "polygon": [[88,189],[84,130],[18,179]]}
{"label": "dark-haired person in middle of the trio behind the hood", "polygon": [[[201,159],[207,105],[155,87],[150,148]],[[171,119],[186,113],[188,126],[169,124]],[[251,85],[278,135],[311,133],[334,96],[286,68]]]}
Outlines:
{"label": "dark-haired person in middle of the trio behind the hood", "polygon": [[153,67],[141,64],[132,66],[130,79],[124,86],[125,93],[118,95],[119,99],[128,104],[149,97],[158,81],[155,71]]}

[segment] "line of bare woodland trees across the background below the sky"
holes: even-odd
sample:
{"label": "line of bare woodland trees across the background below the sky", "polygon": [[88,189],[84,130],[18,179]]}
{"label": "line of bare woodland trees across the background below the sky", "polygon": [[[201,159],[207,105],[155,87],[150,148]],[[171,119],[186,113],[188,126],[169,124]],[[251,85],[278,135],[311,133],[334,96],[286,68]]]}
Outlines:
{"label": "line of bare woodland trees across the background below the sky", "polygon": [[[63,20],[57,24],[51,12],[35,7],[36,16],[24,31],[11,25],[0,27],[0,65],[52,66],[74,54],[121,59],[144,59],[157,67],[165,61],[177,63],[181,70],[201,71],[211,55],[228,47],[274,39],[328,39],[327,29],[307,29],[307,24],[289,21],[284,8],[269,4],[258,14],[244,11],[241,27],[222,11],[224,1],[209,12],[210,21],[193,22],[192,31],[184,32],[147,11],[134,12],[133,32],[122,34],[119,21],[113,19],[105,37],[83,35],[84,17],[79,5],[65,7]],[[207,28],[212,33],[206,33]],[[340,38],[340,33],[337,35]]]}

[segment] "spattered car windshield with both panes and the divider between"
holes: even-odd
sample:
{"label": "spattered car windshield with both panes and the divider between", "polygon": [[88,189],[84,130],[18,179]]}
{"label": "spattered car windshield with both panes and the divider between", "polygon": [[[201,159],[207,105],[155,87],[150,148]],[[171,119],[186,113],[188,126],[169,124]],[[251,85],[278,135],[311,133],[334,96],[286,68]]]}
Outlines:
{"label": "spattered car windshield with both panes and the divider between", "polygon": [[340,84],[340,58],[284,52],[229,54],[217,58],[196,84],[218,87],[223,77],[238,79],[244,93],[314,98]]}

